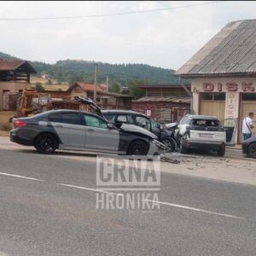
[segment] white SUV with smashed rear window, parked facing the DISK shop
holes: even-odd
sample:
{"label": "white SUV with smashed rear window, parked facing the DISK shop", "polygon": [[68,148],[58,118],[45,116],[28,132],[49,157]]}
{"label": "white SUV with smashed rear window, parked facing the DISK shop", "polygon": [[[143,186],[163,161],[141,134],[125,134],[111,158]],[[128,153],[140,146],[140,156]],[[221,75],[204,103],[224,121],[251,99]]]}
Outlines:
{"label": "white SUV with smashed rear window, parked facing the DISK shop", "polygon": [[224,156],[226,132],[218,118],[187,114],[177,125],[177,147],[180,153],[188,149],[211,149]]}

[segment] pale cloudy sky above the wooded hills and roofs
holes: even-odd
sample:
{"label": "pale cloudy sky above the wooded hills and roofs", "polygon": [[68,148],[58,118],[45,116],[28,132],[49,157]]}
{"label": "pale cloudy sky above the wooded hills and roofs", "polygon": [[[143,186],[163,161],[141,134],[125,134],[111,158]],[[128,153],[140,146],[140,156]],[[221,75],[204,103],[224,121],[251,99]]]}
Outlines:
{"label": "pale cloudy sky above the wooded hills and roofs", "polygon": [[[208,2],[1,1],[0,51],[47,63],[70,59],[177,70],[230,21],[256,19],[256,2],[216,1],[180,8],[203,3]],[[167,8],[176,9],[66,20],[3,20]]]}

